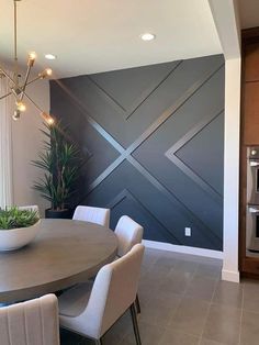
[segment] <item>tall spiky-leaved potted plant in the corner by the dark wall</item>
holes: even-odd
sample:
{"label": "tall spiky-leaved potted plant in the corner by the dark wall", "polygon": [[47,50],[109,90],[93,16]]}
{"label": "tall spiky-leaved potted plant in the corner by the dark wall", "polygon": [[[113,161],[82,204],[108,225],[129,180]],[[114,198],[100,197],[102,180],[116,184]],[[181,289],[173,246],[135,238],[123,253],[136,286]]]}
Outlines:
{"label": "tall spiky-leaved potted plant in the corner by the dark wall", "polygon": [[34,166],[44,170],[44,176],[33,188],[50,201],[50,209],[45,211],[46,218],[71,218],[69,200],[76,191],[78,148],[70,142],[60,121],[44,125],[46,130],[41,130],[46,136],[44,151],[38,154],[40,159],[33,160]]}

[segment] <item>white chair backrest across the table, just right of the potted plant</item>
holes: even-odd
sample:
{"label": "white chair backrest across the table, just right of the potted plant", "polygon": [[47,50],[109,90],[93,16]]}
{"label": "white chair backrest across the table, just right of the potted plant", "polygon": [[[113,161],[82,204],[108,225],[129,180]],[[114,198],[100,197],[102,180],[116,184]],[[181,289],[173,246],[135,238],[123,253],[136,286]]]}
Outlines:
{"label": "white chair backrest across the table, just right of the potted plant", "polygon": [[74,220],[110,226],[110,210],[103,208],[79,205],[74,212]]}

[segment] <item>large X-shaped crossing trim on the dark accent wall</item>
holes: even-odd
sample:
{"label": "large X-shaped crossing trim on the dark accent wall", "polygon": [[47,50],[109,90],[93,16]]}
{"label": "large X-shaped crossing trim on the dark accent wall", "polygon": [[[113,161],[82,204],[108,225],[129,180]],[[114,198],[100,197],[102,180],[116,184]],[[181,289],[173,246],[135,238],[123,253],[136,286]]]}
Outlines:
{"label": "large X-shaped crossing trim on the dark accent wall", "polygon": [[[180,64],[177,65],[177,68]],[[130,162],[149,182],[153,183],[166,198],[168,198],[185,218],[191,220],[202,232],[205,237],[213,242],[221,243],[221,238],[212,233],[210,229],[183,204],[176,196],[169,191],[156,177],[154,177],[132,154],[139,147],[150,135],[153,135],[178,109],[180,109],[200,88],[206,84],[216,73],[224,67],[224,64],[217,66],[214,70],[210,70],[203,78],[195,81],[187,91],[166,111],[161,113],[156,121],[126,149],[108,133],[88,112],[87,107],[82,103],[63,82],[57,81],[61,89],[69,94],[69,98],[78,110],[82,113],[86,120],[103,136],[117,152],[121,154],[105,170],[102,171],[88,187],[81,200],[85,200],[99,185],[101,185],[125,159]],[[173,69],[173,71],[177,70]],[[108,94],[106,94],[108,97]],[[114,103],[115,104],[115,103]],[[180,159],[179,159],[180,160]]]}

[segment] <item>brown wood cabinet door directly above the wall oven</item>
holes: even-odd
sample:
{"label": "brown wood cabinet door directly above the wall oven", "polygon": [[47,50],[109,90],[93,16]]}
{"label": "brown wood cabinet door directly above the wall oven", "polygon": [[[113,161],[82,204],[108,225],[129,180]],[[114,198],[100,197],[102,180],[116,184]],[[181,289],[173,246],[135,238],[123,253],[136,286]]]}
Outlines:
{"label": "brown wood cabinet door directly above the wall oven", "polygon": [[259,81],[245,85],[244,144],[259,145]]}

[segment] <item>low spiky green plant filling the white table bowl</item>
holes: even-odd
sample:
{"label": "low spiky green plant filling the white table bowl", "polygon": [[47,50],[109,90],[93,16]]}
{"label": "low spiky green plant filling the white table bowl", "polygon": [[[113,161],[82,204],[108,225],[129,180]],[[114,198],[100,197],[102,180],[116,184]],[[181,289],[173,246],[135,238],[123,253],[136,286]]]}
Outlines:
{"label": "low spiky green plant filling the white table bowl", "polygon": [[32,226],[38,220],[38,212],[35,210],[20,210],[16,207],[0,210],[0,230]]}

